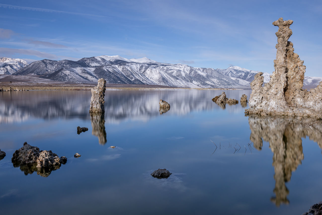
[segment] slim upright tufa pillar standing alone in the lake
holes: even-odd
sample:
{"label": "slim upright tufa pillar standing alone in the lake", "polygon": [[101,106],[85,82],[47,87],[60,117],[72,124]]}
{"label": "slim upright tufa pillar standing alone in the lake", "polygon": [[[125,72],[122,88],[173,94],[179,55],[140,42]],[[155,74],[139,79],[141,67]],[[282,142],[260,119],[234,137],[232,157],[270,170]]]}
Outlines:
{"label": "slim upright tufa pillar standing alone in the lake", "polygon": [[100,78],[97,86],[91,89],[92,97],[90,98],[90,113],[104,113],[104,96],[106,80]]}

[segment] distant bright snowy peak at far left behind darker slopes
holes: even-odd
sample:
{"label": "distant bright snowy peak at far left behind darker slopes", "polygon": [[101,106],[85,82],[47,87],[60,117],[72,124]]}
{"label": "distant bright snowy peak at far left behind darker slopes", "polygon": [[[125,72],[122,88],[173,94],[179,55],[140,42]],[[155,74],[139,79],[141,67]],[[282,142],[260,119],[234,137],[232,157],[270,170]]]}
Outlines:
{"label": "distant bright snowy peak at far left behind darker slopes", "polygon": [[0,57],[0,75],[11,75],[25,66],[28,66],[28,63],[23,59]]}

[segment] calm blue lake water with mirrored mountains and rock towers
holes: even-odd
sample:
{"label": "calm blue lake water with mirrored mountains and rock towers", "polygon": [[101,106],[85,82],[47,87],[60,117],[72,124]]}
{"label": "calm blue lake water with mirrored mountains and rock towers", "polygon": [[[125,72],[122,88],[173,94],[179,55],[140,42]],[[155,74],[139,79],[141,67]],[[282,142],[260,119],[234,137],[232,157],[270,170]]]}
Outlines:
{"label": "calm blue lake water with mirrored mountains and rock towers", "polygon": [[[105,115],[91,116],[90,91],[0,93],[1,213],[284,215],[319,202],[322,129],[246,117],[241,104],[213,103],[219,94],[106,91]],[[159,99],[171,105],[166,113]],[[89,130],[78,135],[77,126]],[[14,168],[25,141],[67,163],[47,173]],[[173,174],[153,178],[158,168]]]}

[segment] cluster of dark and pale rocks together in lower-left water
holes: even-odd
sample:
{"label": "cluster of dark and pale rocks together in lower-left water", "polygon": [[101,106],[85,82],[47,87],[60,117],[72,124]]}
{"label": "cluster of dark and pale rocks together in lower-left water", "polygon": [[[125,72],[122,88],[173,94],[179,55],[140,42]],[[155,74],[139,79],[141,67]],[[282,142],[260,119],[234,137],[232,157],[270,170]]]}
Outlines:
{"label": "cluster of dark and pale rocks together in lower-left water", "polygon": [[[47,177],[52,170],[59,169],[61,164],[67,162],[66,157],[58,157],[51,150],[40,151],[38,147],[24,142],[24,146],[16,150],[11,159],[14,167],[19,167],[27,174],[31,171],[39,171],[39,174]],[[45,169],[42,169],[45,168]],[[41,173],[42,172],[42,173]],[[48,172],[49,174],[45,174]]]}

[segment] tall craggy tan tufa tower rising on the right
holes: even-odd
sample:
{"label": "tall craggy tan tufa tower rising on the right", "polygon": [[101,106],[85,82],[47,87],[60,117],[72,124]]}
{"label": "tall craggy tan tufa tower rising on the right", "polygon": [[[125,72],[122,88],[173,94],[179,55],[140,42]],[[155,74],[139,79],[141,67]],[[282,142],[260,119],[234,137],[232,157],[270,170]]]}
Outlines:
{"label": "tall craggy tan tufa tower rising on the right", "polygon": [[278,26],[276,32],[275,71],[270,81],[262,87],[263,73],[255,75],[251,82],[250,108],[246,114],[311,116],[322,118],[322,83],[310,91],[303,90],[303,80],[306,67],[298,54],[294,53],[293,43],[288,39],[292,35],[289,26],[292,20],[283,18],[273,22]]}

